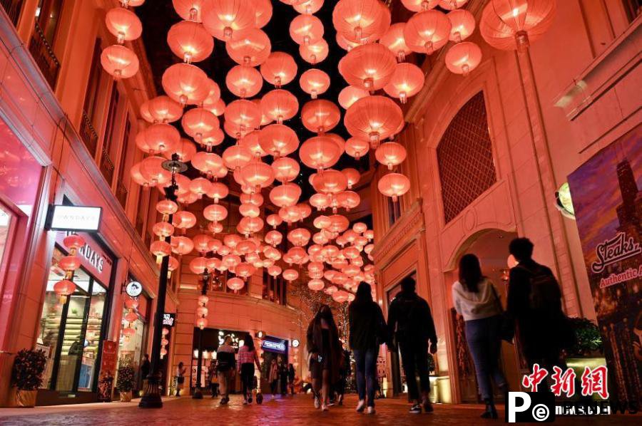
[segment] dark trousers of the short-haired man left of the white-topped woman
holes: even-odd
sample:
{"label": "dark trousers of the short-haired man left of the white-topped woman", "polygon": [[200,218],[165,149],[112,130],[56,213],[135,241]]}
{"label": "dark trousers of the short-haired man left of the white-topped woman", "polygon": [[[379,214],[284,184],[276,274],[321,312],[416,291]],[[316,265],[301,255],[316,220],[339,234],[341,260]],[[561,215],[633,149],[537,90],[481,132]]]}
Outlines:
{"label": "dark trousers of the short-haired man left of the white-topped woman", "polygon": [[419,375],[419,386],[427,397],[430,392],[430,376],[428,373],[428,342],[424,339],[409,339],[399,342],[399,350],[402,353],[402,364],[408,383],[408,398],[419,400],[419,388],[417,388],[417,375]]}

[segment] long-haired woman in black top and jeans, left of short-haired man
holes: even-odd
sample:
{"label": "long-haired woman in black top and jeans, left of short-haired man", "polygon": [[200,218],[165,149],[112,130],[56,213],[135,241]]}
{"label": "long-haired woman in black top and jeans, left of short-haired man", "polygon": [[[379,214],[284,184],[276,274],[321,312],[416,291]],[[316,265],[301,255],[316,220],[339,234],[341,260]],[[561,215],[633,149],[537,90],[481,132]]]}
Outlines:
{"label": "long-haired woman in black top and jeans, left of short-haired man", "polygon": [[[348,306],[350,322],[350,348],[357,364],[357,412],[367,406],[368,414],[374,414],[374,388],[377,382],[377,356],[379,346],[387,342],[386,321],[379,304],[372,300],[370,284],[360,283],[355,300]],[[350,358],[348,358],[350,365]],[[367,399],[366,399],[367,397]]]}

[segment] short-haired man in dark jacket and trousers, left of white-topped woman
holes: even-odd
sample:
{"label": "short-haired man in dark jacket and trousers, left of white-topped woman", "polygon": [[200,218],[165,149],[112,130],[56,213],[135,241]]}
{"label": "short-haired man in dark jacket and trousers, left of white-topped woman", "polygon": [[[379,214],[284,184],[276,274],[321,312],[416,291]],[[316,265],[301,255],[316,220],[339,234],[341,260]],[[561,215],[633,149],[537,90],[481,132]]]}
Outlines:
{"label": "short-haired man in dark jacket and trousers, left of white-topped woman", "polygon": [[[408,398],[412,403],[410,413],[419,414],[422,407],[425,412],[432,412],[427,354],[428,350],[430,353],[437,352],[437,332],[428,302],[417,295],[417,284],[412,276],[402,279],[400,284],[401,291],[390,303],[388,311],[389,336],[394,336],[395,343],[401,350],[408,382]],[[421,399],[417,388],[417,374],[422,392]]]}

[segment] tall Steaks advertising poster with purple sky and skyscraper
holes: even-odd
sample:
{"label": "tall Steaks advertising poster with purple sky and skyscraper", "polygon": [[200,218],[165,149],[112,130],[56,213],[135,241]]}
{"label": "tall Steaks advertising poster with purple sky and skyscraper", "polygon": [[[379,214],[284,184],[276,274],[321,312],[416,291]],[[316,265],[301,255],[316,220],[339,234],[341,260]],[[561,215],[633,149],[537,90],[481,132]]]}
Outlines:
{"label": "tall Steaks advertising poster with purple sky and skyscraper", "polygon": [[569,176],[611,400],[642,395],[642,126]]}

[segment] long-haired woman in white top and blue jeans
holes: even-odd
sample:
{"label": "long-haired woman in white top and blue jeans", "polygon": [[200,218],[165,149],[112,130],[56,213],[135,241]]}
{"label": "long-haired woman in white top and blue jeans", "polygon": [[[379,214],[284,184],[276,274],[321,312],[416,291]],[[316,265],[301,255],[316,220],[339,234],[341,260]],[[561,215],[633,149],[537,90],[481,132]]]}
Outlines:
{"label": "long-haired woman in white top and blue jeans", "polygon": [[464,254],[459,260],[459,281],[452,285],[452,303],[457,313],[464,317],[466,341],[475,364],[479,393],[486,403],[481,417],[496,419],[491,377],[501,393],[508,389],[499,368],[501,302],[494,284],[481,274],[479,259],[474,254]]}

